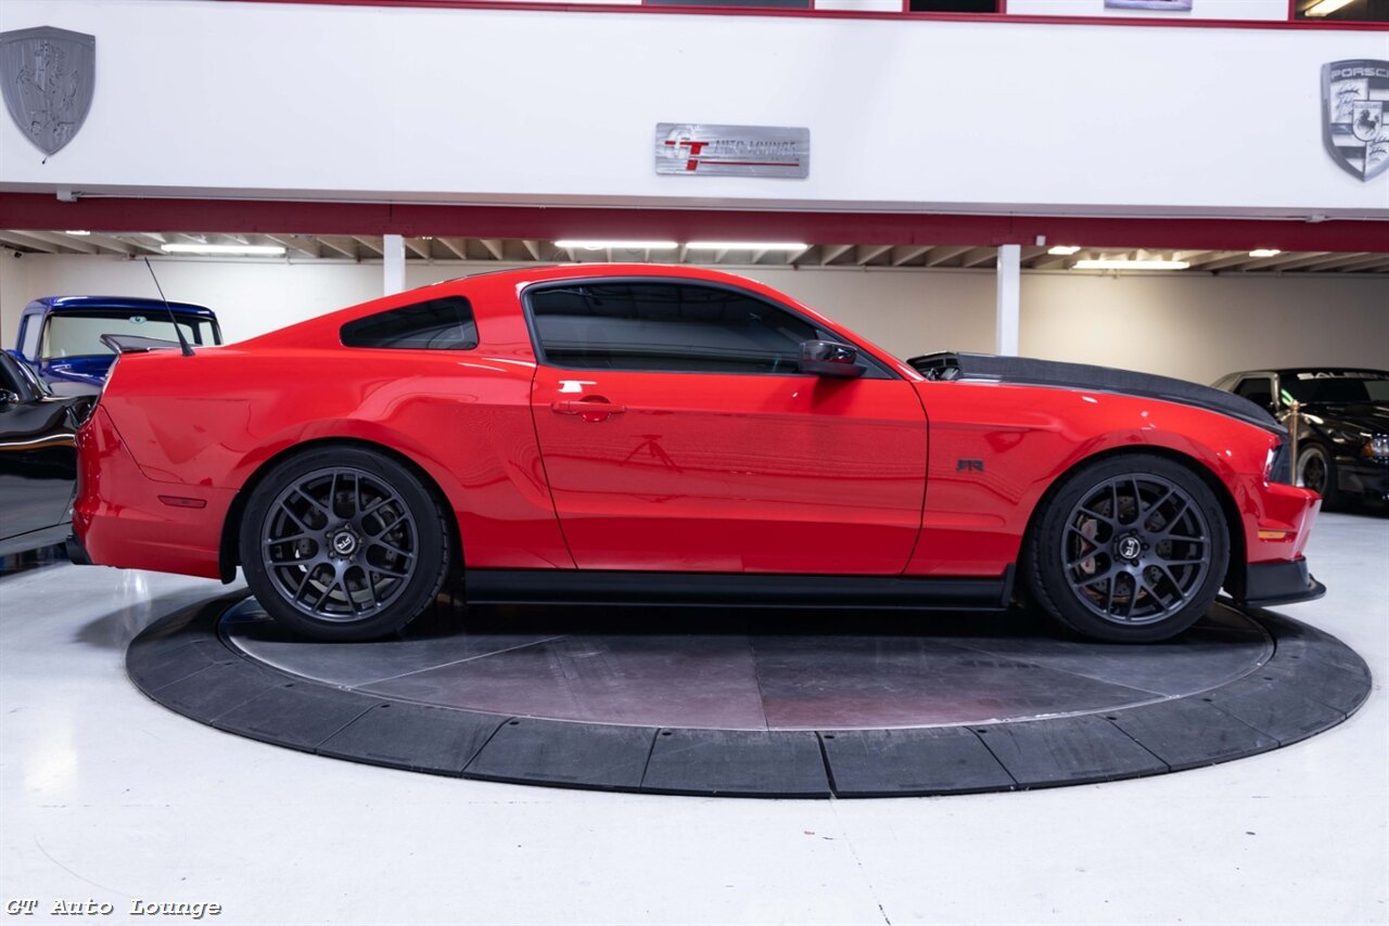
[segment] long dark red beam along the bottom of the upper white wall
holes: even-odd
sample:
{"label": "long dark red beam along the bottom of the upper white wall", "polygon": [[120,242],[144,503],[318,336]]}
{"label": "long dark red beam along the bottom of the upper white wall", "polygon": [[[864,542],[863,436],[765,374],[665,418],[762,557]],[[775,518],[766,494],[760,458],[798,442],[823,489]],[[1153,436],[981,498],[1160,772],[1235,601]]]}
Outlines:
{"label": "long dark red beam along the bottom of the upper white wall", "polygon": [[1049,244],[1088,247],[1276,247],[1285,251],[1389,253],[1389,221],[544,208],[122,197],[89,197],[63,203],[42,193],[0,193],[0,228],[978,246],[1032,244],[1036,236],[1045,235]]}

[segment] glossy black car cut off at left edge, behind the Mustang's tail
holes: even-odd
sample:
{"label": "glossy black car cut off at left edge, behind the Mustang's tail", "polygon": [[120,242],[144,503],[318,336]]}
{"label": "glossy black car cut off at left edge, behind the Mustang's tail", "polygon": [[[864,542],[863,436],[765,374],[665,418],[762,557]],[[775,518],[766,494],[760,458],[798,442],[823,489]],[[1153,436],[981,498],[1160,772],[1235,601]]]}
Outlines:
{"label": "glossy black car cut off at left edge, behind the Mustang's tail", "polygon": [[96,392],[54,396],[0,353],[0,557],[63,543],[78,478],[76,429]]}

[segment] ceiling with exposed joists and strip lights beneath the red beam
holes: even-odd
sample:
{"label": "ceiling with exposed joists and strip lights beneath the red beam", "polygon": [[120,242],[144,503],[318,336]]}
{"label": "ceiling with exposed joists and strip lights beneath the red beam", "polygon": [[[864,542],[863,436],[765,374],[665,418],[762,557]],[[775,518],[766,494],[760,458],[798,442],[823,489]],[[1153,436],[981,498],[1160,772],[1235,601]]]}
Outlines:
{"label": "ceiling with exposed joists and strip lights beneath the red beam", "polygon": [[[406,261],[468,261],[494,264],[554,262],[653,262],[699,264],[711,267],[883,267],[883,268],[968,268],[996,267],[993,246],[974,244],[856,244],[815,243],[796,250],[774,249],[582,249],[558,247],[540,239],[496,237],[407,237]],[[0,246],[31,254],[90,254],[168,257],[164,244],[275,244],[285,249],[285,258],[300,261],[374,261],[382,260],[381,235],[222,235],[196,232],[103,232],[74,235],[53,230],[0,230]],[[1070,255],[1049,254],[1047,247],[1022,247],[1022,267],[1038,271],[1070,269],[1078,260],[1163,258],[1188,261],[1182,272],[1220,273],[1386,273],[1389,253],[1354,251],[1281,251],[1270,257],[1251,257],[1249,251],[1218,250],[1140,250],[1085,249]],[[219,258],[247,260],[247,258]],[[265,258],[258,258],[265,260]],[[278,258],[276,258],[278,260]],[[1090,271],[1096,272],[1096,271]]]}

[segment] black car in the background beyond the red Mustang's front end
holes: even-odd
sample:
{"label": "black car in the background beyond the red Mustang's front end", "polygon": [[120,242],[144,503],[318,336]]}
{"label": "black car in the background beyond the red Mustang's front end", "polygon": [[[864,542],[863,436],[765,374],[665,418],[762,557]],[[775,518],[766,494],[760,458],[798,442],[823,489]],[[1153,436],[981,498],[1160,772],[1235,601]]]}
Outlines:
{"label": "black car in the background beyond the red Mustang's front end", "polygon": [[1389,371],[1340,367],[1253,369],[1215,389],[1243,396],[1289,422],[1299,407],[1296,482],[1328,505],[1353,496],[1389,498]]}

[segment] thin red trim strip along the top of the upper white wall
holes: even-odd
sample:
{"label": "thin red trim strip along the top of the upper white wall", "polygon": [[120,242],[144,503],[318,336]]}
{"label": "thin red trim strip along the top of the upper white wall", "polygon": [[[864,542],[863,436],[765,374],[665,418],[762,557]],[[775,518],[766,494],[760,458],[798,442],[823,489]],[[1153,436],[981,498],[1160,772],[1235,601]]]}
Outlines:
{"label": "thin red trim strip along the top of the upper white wall", "polygon": [[814,17],[824,19],[914,19],[942,22],[1040,22],[1050,25],[1192,26],[1197,29],[1368,29],[1386,31],[1389,22],[1311,19],[1160,19],[1153,17],[1038,17],[1004,12],[876,12],[868,10],[778,10],[757,7],[647,7],[621,4],[510,3],[507,0],[250,0],[335,7],[425,7],[436,10],[542,10],[550,12],[649,12],[657,15]]}

